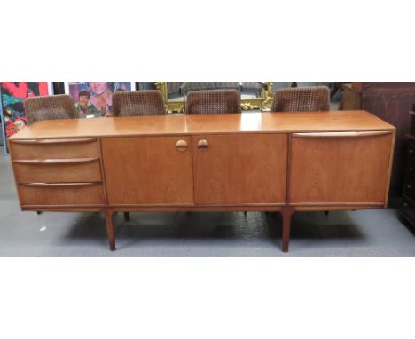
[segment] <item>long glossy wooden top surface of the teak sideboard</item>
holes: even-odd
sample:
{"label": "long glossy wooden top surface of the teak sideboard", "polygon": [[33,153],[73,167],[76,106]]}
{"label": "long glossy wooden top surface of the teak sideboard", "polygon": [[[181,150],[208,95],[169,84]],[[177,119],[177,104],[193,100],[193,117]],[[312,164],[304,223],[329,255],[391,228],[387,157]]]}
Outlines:
{"label": "long glossy wooden top surface of the teak sideboard", "polygon": [[395,130],[395,127],[366,111],[169,114],[35,122],[9,139],[347,130]]}

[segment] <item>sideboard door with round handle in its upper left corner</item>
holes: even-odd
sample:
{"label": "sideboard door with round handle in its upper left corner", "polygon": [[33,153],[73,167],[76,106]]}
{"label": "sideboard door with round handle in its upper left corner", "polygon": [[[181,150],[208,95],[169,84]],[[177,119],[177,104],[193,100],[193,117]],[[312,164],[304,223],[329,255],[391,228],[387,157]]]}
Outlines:
{"label": "sideboard door with round handle in its upper left corner", "polygon": [[277,204],[286,199],[286,134],[192,137],[197,204]]}

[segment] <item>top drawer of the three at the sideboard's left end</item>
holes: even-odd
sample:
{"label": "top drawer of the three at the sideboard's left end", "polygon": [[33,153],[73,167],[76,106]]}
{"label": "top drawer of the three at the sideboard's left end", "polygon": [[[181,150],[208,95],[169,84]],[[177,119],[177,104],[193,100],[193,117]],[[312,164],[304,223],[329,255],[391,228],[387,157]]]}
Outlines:
{"label": "top drawer of the three at the sideboard's left end", "polygon": [[14,140],[10,147],[13,160],[99,157],[97,138]]}

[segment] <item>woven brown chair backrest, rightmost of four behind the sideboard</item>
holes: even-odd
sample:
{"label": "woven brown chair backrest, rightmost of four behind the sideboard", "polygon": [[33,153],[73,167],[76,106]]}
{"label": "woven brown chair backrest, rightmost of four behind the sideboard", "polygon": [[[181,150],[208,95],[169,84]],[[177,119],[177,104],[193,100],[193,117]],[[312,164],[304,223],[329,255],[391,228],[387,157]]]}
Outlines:
{"label": "woven brown chair backrest, rightmost of four behind the sideboard", "polygon": [[325,86],[295,87],[275,92],[271,112],[330,110],[330,90]]}

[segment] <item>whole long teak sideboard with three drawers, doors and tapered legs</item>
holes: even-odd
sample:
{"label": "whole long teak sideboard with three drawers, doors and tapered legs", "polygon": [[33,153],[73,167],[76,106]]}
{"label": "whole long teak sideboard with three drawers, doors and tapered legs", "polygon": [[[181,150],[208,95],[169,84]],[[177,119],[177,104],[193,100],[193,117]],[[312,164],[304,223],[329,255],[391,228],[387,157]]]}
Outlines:
{"label": "whole long teak sideboard with three drawers, doors and tapered legs", "polygon": [[395,128],[365,111],[36,122],[9,138],[20,208],[294,211],[386,208]]}

